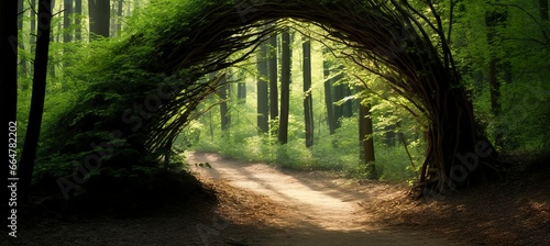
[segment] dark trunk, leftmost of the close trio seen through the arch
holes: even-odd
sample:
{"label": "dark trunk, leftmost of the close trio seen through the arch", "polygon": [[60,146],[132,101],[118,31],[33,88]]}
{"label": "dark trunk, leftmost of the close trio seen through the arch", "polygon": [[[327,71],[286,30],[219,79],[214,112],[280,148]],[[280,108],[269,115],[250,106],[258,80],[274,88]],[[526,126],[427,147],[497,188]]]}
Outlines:
{"label": "dark trunk, leftmost of the close trio seen through the arch", "polygon": [[268,47],[266,44],[262,44],[260,47],[260,53],[257,53],[256,56],[257,128],[260,133],[267,133],[270,131],[270,124],[267,123],[267,119],[270,118],[267,48]]}

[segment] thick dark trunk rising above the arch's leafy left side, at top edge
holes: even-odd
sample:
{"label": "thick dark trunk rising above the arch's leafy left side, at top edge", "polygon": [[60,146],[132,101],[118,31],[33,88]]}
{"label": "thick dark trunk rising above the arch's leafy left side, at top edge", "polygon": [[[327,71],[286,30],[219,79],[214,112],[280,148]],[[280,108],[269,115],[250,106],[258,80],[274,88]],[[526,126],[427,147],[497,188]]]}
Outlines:
{"label": "thick dark trunk rising above the arch's leafy left side, at top edge", "polygon": [[88,0],[88,13],[90,15],[90,32],[109,37],[110,0]]}

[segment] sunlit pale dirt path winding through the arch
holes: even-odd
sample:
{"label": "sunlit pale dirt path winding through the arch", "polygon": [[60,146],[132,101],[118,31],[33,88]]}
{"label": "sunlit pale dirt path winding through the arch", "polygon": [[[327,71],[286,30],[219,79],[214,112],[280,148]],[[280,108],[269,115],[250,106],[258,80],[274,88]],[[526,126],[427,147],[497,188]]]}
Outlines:
{"label": "sunlit pale dirt path winding through the arch", "polygon": [[[262,222],[270,232],[228,231],[233,237],[246,238],[246,245],[464,245],[438,235],[362,223],[364,215],[358,211],[365,194],[351,189],[344,179],[222,159],[215,154],[191,153],[188,160],[202,180],[227,182],[286,209],[273,211],[275,217]],[[199,163],[211,168],[193,165]]]}

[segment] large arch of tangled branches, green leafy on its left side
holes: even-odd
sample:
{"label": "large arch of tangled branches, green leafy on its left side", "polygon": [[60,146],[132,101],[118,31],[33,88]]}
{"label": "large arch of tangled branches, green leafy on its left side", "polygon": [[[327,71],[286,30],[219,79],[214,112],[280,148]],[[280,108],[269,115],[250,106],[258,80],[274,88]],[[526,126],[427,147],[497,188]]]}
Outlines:
{"label": "large arch of tangled branches, green leafy on its left side", "polygon": [[[70,141],[48,153],[70,156],[89,149],[90,143],[102,143],[94,146],[103,154],[109,149],[100,156],[102,166],[132,169],[136,163],[158,165],[157,159],[197,104],[219,82],[218,78],[199,78],[245,59],[284,26],[256,27],[292,18],[316,24],[328,38],[353,48],[352,54],[342,55],[382,76],[428,119],[427,158],[418,194],[448,192],[496,170],[496,153],[476,132],[471,102],[436,12],[427,18],[397,0],[182,0],[151,4],[166,5],[145,9],[141,18],[151,23],[133,29],[116,44],[110,51],[112,60],[94,64],[98,74],[87,89],[92,96],[57,123],[73,128],[50,133],[52,139],[62,136]],[[439,46],[433,45],[431,34],[439,37]],[[246,52],[230,59],[239,51]],[[90,107],[105,111],[87,113]]]}

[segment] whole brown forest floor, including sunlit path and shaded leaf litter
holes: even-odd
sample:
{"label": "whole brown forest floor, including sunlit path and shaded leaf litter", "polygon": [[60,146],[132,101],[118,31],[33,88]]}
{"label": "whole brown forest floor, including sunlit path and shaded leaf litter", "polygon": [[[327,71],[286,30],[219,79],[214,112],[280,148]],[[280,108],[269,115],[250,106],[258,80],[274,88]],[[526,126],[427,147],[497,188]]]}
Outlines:
{"label": "whole brown forest floor, including sunlit path and shaded leaf litter", "polygon": [[0,245],[550,245],[547,164],[514,159],[502,183],[414,201],[404,183],[207,153],[188,161],[217,200],[195,195],[131,217],[44,213]]}

